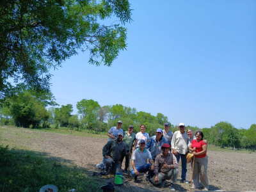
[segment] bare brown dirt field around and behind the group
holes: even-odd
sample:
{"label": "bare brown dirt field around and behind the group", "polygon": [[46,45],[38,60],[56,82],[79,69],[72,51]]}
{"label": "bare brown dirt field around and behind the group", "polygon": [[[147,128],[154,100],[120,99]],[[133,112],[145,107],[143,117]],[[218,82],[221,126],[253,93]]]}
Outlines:
{"label": "bare brown dirt field around and behind the group", "polygon": [[[15,133],[16,132],[16,133]],[[23,146],[28,150],[45,152],[50,157],[64,163],[71,163],[87,168],[92,172],[100,172],[95,165],[102,161],[102,147],[106,138],[90,138],[50,132],[31,131],[29,129],[13,129],[12,132],[0,132],[1,141],[5,145],[15,147]],[[22,136],[21,136],[22,135]],[[252,152],[217,152],[207,151],[208,177],[210,190],[227,191],[255,191],[256,190],[256,153]],[[179,164],[180,165],[180,164]],[[122,168],[124,168],[124,163]],[[177,191],[187,191],[190,184],[180,183],[180,168],[178,181],[175,184]],[[127,174],[124,186],[116,191],[170,191],[166,182],[164,188],[152,186],[145,182],[143,175],[138,177],[138,182],[133,182]],[[191,167],[188,164],[187,180],[191,179]],[[190,182],[190,181],[189,181]]]}

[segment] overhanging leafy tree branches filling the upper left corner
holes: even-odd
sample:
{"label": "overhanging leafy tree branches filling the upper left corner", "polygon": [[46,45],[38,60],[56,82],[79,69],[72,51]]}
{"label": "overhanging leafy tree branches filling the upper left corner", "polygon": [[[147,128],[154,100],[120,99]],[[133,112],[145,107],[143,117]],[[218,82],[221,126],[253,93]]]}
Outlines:
{"label": "overhanging leafy tree branches filling the upper left corner", "polygon": [[[99,21],[113,16],[109,25]],[[79,49],[90,64],[110,66],[127,46],[130,21],[128,0],[1,0],[0,99],[20,87],[49,90],[49,70]]]}

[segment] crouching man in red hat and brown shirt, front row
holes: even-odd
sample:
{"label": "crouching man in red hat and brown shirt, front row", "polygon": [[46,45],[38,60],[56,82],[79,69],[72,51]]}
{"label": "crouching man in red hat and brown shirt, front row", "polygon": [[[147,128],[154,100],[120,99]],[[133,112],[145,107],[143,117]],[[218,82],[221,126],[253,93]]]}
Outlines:
{"label": "crouching man in red hat and brown shirt, front row", "polygon": [[179,175],[179,164],[177,163],[175,155],[169,153],[169,144],[164,144],[161,149],[163,150],[163,153],[159,154],[155,159],[155,176],[152,179],[152,183],[155,185],[162,184],[162,186],[164,186],[165,180],[170,179],[170,189],[171,191],[175,191],[173,185]]}

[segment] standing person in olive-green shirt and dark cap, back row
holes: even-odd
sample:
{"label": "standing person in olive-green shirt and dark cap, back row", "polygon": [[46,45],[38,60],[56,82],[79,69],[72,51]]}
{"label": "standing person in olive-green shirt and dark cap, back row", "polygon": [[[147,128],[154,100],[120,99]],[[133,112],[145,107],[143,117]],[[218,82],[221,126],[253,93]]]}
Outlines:
{"label": "standing person in olive-green shirt and dark cap, back row", "polygon": [[[127,152],[132,152],[132,147],[133,147],[133,143],[135,141],[135,136],[136,134],[133,132],[133,125],[130,125],[128,128],[128,131],[124,132],[124,138],[123,138],[123,142],[126,145],[126,150]],[[130,143],[131,143],[131,151],[129,150],[130,148]],[[121,156],[121,166],[124,160],[124,156]],[[129,167],[129,156],[125,156],[125,168],[124,168],[124,172],[127,173],[128,172],[128,167]]]}

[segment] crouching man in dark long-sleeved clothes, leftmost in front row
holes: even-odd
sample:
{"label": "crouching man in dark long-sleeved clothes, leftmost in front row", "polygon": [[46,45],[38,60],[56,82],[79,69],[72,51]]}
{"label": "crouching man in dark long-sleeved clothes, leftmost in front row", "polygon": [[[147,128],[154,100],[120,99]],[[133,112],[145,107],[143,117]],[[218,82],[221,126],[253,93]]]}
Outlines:
{"label": "crouching man in dark long-sleeved clothes, leftmost in front row", "polygon": [[109,171],[112,173],[121,172],[121,156],[131,156],[131,153],[127,153],[125,143],[123,140],[123,133],[118,132],[117,139],[108,141],[108,143],[102,149],[102,155],[104,156],[104,163],[106,164],[105,173]]}

